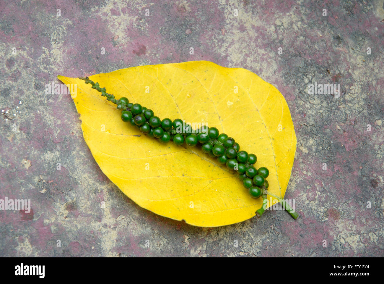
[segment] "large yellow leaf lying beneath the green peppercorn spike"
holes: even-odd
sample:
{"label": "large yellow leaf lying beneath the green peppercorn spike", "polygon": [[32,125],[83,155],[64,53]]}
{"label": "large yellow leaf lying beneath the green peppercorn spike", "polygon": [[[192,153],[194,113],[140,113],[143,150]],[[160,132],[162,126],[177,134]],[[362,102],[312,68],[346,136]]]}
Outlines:
{"label": "large yellow leaf lying beneath the green peppercorn spike", "polygon": [[[84,140],[101,170],[141,207],[201,227],[241,222],[262,207],[261,197],[250,197],[237,174],[200,147],[161,144],[142,135],[122,122],[116,105],[90,84],[58,78],[77,85],[73,100]],[[270,170],[268,200],[284,197],[296,151],[295,130],[284,97],[257,75],[192,61],[131,67],[89,79],[116,99],[127,97],[161,119],[217,127],[241,150],[257,155],[255,167]]]}

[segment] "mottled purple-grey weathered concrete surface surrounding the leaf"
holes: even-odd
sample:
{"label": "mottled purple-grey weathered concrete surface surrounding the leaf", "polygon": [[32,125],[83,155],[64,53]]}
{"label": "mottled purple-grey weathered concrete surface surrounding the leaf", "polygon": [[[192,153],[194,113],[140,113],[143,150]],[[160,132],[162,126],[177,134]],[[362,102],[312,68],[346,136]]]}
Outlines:
{"label": "mottled purple-grey weathered concrete surface surrounding the leaf", "polygon": [[[384,256],[383,0],[0,7],[0,199],[31,200],[30,213],[0,211],[0,256]],[[189,60],[247,68],[285,96],[299,219],[199,228],[142,209],[94,162],[70,95],[44,92],[58,74]],[[340,97],[308,94],[314,82]]]}

